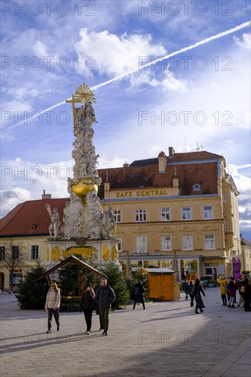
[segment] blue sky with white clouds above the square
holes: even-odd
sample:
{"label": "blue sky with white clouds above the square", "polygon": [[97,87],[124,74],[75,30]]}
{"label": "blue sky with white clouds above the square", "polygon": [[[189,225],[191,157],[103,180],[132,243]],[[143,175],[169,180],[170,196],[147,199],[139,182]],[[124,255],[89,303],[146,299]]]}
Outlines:
{"label": "blue sky with white clouds above the square", "polygon": [[68,196],[71,105],[56,105],[123,75],[94,90],[99,167],[169,146],[223,155],[250,240],[249,21],[246,0],[1,1],[1,216]]}

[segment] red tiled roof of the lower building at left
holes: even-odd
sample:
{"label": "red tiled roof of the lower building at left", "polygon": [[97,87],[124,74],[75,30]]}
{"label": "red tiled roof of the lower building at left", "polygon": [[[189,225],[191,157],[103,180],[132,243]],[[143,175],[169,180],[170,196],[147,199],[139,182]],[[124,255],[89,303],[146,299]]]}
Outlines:
{"label": "red tiled roof of the lower building at left", "polygon": [[40,199],[18,204],[0,220],[0,236],[49,235],[51,219],[45,204],[49,204],[51,210],[55,207],[58,208],[62,221],[63,210],[67,201],[69,201],[67,198]]}

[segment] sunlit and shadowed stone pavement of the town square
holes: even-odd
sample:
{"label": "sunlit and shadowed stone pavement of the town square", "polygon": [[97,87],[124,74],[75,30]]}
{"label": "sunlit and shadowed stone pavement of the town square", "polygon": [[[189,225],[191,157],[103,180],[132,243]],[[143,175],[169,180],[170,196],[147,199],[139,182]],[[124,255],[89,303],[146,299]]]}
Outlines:
{"label": "sunlit and shadowed stone pavement of the town square", "polygon": [[211,288],[195,315],[181,295],[110,313],[104,337],[95,314],[84,334],[83,313],[60,314],[60,331],[53,320],[47,335],[45,311],[21,311],[14,295],[1,294],[1,377],[250,376],[250,312],[222,306]]}

